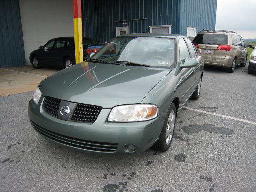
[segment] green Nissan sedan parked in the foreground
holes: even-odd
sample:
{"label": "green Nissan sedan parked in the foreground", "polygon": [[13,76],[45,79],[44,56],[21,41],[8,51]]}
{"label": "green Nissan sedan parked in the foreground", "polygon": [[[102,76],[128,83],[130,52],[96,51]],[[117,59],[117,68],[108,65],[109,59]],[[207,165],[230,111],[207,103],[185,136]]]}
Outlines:
{"label": "green Nissan sedan parked in the foreground", "polygon": [[92,153],[170,147],[178,112],[198,99],[204,70],[176,34],[126,34],[90,59],[44,79],[28,105],[44,138]]}

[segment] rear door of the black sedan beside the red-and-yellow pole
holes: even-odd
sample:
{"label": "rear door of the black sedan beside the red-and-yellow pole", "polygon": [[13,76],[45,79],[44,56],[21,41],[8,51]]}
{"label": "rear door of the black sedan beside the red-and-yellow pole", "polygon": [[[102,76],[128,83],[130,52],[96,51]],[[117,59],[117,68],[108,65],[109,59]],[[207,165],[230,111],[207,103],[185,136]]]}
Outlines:
{"label": "rear door of the black sedan beside the red-and-yellow pole", "polygon": [[63,57],[65,55],[66,38],[58,38],[54,47],[49,50],[50,63],[53,66],[62,66]]}

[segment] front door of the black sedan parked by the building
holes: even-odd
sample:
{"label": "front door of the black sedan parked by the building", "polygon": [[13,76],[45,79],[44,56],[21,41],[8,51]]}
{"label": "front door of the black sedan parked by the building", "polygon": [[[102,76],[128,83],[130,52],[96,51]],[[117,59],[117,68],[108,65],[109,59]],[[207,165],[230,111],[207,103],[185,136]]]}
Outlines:
{"label": "front door of the black sedan parked by the building", "polygon": [[53,48],[55,39],[48,41],[38,55],[38,62],[43,65],[50,65],[50,50]]}

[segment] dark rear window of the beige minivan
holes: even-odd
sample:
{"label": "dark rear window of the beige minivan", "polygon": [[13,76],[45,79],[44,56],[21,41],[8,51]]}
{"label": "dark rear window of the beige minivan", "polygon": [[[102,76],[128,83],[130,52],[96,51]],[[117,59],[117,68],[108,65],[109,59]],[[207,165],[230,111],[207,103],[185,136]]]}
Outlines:
{"label": "dark rear window of the beige minivan", "polygon": [[200,33],[194,38],[196,44],[227,45],[228,35],[214,33]]}

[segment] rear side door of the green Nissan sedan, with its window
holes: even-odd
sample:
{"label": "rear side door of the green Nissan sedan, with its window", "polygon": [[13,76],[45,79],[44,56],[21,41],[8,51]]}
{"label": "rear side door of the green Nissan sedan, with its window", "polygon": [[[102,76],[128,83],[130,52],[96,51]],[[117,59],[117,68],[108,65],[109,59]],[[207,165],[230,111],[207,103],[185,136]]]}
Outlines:
{"label": "rear side door of the green Nissan sedan, with its window", "polygon": [[198,82],[199,81],[199,78],[201,77],[201,67],[202,67],[202,56],[200,56],[199,54],[198,54],[198,52],[196,51],[196,49],[195,49],[195,47],[194,47],[194,45],[192,44],[192,42],[191,42],[191,40],[190,39],[188,39],[188,38],[185,38],[185,41],[186,41],[186,43],[187,43],[187,45],[188,45],[188,49],[189,49],[189,51],[190,51],[190,57],[191,58],[194,58],[194,59],[196,59],[197,60],[197,66],[196,67],[194,67],[194,72],[195,72],[195,77],[196,77],[196,82]]}

